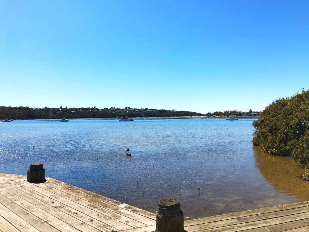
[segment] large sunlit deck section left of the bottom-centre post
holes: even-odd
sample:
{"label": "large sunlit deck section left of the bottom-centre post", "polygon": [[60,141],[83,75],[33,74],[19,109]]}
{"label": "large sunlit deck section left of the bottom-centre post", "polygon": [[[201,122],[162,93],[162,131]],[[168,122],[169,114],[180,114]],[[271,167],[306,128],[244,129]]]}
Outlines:
{"label": "large sunlit deck section left of the bottom-centre post", "polygon": [[0,174],[0,231],[121,231],[155,225],[155,214],[46,178]]}

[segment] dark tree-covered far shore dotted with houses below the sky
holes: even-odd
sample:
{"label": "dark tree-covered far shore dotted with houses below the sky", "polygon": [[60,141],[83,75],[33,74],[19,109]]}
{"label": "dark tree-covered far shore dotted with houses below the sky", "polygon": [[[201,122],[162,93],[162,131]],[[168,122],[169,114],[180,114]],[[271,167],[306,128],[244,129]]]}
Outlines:
{"label": "dark tree-covered far shore dotted with houses below the sky", "polygon": [[[259,115],[260,112],[252,112]],[[238,110],[233,111],[215,111],[213,113],[201,114],[191,111],[176,111],[176,110],[156,110],[148,108],[103,108],[98,109],[95,107],[80,107],[80,108],[31,108],[28,106],[0,106],[0,118],[12,118],[14,120],[19,119],[59,119],[59,118],[146,118],[146,117],[208,117],[208,116],[229,116],[229,115],[241,116],[242,112]]]}

